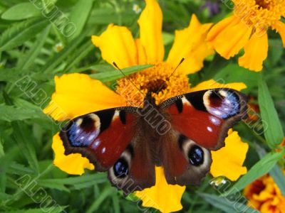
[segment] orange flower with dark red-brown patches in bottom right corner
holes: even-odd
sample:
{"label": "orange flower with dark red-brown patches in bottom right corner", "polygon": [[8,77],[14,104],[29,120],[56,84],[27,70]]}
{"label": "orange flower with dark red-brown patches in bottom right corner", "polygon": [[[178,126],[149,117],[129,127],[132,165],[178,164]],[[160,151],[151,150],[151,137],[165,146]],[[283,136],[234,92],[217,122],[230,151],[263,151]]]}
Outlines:
{"label": "orange flower with dark red-brown patches in bottom right corner", "polygon": [[285,197],[269,175],[255,180],[244,189],[248,205],[261,213],[284,213]]}

